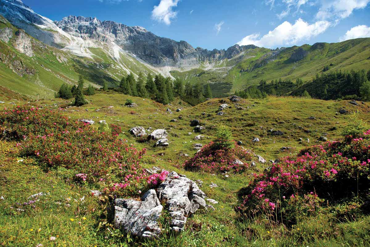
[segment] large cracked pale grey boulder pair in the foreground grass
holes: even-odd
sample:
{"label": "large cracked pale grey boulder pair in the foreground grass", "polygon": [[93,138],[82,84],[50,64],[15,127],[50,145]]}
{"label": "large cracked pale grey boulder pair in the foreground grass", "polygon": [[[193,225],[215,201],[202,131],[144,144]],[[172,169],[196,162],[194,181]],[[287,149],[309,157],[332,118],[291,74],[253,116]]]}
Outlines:
{"label": "large cracked pale grey boulder pair in the foreground grass", "polygon": [[[158,220],[165,207],[171,217],[171,231],[178,233],[191,214],[199,208],[206,208],[205,197],[194,181],[172,171],[159,185],[157,192],[148,190],[141,201],[115,199],[114,227],[137,237],[154,238],[162,232]],[[165,203],[164,207],[161,202]]]}

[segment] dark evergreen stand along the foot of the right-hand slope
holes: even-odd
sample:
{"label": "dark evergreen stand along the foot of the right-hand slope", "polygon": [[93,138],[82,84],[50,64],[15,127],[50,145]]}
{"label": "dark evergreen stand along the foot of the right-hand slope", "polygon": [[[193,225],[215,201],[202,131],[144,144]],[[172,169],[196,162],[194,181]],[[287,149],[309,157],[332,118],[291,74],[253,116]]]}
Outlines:
{"label": "dark evergreen stand along the foot of the right-hand slope", "polygon": [[302,79],[296,79],[295,82],[279,79],[270,83],[261,80],[258,86],[250,86],[246,90],[236,91],[235,94],[245,99],[262,99],[267,95],[292,95],[323,100],[370,100],[370,70],[330,71],[326,74],[316,74],[313,80],[305,83]]}

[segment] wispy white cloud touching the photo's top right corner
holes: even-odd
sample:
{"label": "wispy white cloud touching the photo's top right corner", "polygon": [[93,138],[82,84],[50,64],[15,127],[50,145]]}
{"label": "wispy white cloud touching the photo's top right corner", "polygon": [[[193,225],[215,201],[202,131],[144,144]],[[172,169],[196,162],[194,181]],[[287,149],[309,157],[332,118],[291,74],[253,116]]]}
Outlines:
{"label": "wispy white cloud touching the photo's top right corner", "polygon": [[329,20],[344,19],[352,13],[353,10],[363,9],[370,0],[321,0],[321,6],[316,14],[317,19]]}

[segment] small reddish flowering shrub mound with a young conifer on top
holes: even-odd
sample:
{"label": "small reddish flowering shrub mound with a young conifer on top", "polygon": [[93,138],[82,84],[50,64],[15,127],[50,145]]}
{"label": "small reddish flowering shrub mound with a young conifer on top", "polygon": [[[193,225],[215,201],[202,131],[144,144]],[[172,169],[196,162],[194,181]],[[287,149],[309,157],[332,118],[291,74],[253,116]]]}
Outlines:
{"label": "small reddish flowering shrub mound with a young conifer on top", "polygon": [[[243,164],[237,162],[242,161]],[[247,161],[252,160],[252,155],[239,145],[231,148],[219,148],[217,142],[209,144],[195,154],[190,160],[186,160],[184,167],[187,170],[200,170],[205,172],[235,171],[240,173],[248,168]]]}

